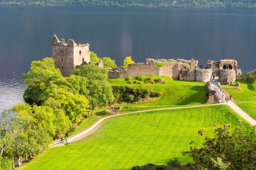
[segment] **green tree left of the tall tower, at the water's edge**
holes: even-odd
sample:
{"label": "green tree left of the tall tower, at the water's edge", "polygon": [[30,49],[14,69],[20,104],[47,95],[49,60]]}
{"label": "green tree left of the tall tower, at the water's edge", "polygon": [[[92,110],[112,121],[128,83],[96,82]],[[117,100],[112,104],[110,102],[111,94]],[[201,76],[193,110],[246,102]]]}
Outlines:
{"label": "green tree left of the tall tower, at the water's edge", "polygon": [[30,71],[23,74],[22,78],[28,85],[24,98],[32,99],[35,103],[41,103],[40,98],[43,90],[49,86],[50,81],[55,81],[62,77],[59,69],[55,69],[53,58],[43,58],[42,61],[32,61]]}

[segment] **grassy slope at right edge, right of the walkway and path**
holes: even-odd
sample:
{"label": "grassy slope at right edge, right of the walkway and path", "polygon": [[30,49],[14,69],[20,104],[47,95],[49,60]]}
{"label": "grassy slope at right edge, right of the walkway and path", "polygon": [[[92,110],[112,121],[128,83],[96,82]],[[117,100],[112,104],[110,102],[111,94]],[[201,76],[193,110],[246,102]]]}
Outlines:
{"label": "grassy slope at right edge, right of the walkway and path", "polygon": [[[243,79],[237,78],[239,81],[241,91],[239,90],[227,90],[229,94],[232,94],[235,103],[252,118],[256,119],[256,79],[252,83],[243,83]],[[233,83],[235,84],[235,83]],[[223,87],[230,87],[222,84]],[[232,85],[235,87],[235,85]]]}

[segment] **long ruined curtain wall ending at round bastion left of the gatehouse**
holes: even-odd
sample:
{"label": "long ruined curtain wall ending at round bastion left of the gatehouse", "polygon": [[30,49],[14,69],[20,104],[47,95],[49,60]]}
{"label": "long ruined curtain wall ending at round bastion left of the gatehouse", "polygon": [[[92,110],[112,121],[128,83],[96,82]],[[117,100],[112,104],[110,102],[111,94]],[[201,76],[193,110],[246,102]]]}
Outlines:
{"label": "long ruined curtain wall ending at round bastion left of the gatehouse", "polygon": [[[173,59],[171,59],[173,61]],[[115,68],[109,70],[108,78],[125,78],[125,77],[136,77],[139,75],[157,75],[157,76],[167,76],[174,79],[187,80],[187,81],[198,81],[207,82],[211,78],[211,69],[198,69],[198,61],[194,61],[192,58],[188,60],[175,60],[181,61],[173,64],[165,64],[161,67],[155,67],[154,59],[146,59],[146,63],[132,63],[127,66],[127,68]],[[163,61],[163,59],[161,59]],[[190,65],[190,69],[185,70],[184,67]]]}

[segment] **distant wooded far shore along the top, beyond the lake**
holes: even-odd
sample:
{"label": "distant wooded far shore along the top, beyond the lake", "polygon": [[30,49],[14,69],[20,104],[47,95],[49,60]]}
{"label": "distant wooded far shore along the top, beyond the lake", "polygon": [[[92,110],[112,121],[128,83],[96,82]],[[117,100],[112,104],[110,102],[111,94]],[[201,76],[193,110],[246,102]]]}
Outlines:
{"label": "distant wooded far shore along the top, beyond the lake", "polygon": [[0,5],[161,8],[256,8],[255,0],[2,0]]}

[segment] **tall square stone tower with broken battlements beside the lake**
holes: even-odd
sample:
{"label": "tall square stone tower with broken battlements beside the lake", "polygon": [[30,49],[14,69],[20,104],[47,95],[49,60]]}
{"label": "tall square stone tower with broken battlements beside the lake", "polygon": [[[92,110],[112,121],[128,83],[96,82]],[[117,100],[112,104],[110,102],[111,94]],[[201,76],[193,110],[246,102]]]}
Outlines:
{"label": "tall square stone tower with broken battlements beside the lake", "polygon": [[54,34],[51,38],[51,45],[53,45],[55,68],[61,70],[64,77],[69,77],[71,72],[83,62],[90,62],[89,44],[76,44],[71,39],[65,43],[64,39],[58,40]]}

